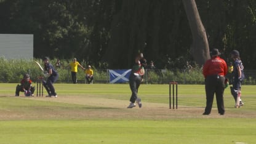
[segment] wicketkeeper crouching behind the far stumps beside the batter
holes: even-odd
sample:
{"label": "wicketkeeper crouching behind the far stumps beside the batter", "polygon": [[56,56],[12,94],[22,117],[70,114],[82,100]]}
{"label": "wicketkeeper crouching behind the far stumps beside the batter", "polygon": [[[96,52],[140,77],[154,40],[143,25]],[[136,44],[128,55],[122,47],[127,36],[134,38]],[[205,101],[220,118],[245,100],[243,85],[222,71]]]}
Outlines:
{"label": "wicketkeeper crouching behind the far stumps beside the batter", "polygon": [[22,81],[17,85],[15,96],[19,96],[20,92],[24,92],[26,97],[34,96],[34,86],[32,86],[32,81],[29,74],[24,74]]}

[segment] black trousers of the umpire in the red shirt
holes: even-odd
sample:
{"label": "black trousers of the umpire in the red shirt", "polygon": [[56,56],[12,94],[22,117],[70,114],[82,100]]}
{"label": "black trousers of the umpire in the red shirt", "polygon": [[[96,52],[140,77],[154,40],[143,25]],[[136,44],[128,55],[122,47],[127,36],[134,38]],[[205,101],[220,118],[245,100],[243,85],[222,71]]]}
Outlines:
{"label": "black trousers of the umpire in the red shirt", "polygon": [[210,114],[212,111],[212,103],[214,102],[214,94],[216,95],[218,113],[225,113],[225,106],[223,100],[223,93],[225,90],[224,76],[207,76],[206,78],[206,108],[204,113]]}

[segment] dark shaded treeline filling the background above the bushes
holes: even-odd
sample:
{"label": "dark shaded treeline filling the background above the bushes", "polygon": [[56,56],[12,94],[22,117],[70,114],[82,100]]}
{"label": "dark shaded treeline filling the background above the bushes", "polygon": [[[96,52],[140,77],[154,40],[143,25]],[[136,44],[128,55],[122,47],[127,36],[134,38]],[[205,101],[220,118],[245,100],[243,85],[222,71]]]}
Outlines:
{"label": "dark shaded treeline filling the background above the bushes", "polygon": [[[210,49],[256,65],[256,1],[196,0]],[[34,57],[76,57],[98,68],[130,68],[143,52],[158,68],[192,62],[179,0],[0,0],[0,33],[34,34]]]}

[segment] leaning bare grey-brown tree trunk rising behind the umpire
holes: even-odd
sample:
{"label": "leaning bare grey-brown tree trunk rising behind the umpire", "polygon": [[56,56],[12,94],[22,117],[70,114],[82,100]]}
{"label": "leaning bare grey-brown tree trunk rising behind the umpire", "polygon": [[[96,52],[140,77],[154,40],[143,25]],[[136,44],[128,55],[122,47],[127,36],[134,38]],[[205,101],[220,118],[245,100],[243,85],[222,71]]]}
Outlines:
{"label": "leaning bare grey-brown tree trunk rising behind the umpire", "polygon": [[196,63],[201,66],[210,58],[206,30],[204,29],[204,25],[202,25],[195,0],[182,0],[182,2],[193,36],[193,44],[190,47],[190,52]]}

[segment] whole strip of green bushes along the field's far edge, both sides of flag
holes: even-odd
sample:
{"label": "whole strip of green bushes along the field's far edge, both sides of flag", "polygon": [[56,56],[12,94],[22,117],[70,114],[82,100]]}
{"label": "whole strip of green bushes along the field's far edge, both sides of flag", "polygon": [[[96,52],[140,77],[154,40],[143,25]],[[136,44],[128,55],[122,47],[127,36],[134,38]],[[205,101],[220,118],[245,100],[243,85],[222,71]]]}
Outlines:
{"label": "whole strip of green bushes along the field's far edge, both sides of flag", "polygon": [[[40,59],[35,59],[43,66]],[[50,60],[50,63],[55,66],[57,59]],[[71,72],[69,63],[71,60],[61,60],[62,67],[57,68],[60,74],[57,82],[72,83]],[[85,64],[84,64],[85,66]],[[92,68],[94,70],[94,83],[108,83],[110,76],[108,70]],[[23,74],[30,74],[32,81],[36,81],[39,76],[42,76],[42,71],[34,63],[34,60],[6,60],[0,58],[0,82],[15,82],[18,83],[23,78]],[[256,84],[255,71],[247,72],[247,79],[244,84]],[[79,68],[77,73],[78,82],[84,83],[84,71]],[[178,82],[179,84],[204,84],[204,76],[202,75],[201,68],[193,68],[191,71],[183,70],[146,70],[144,82],[146,84],[168,84],[171,81]]]}

